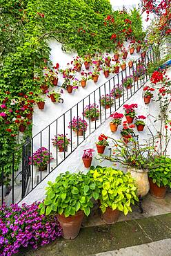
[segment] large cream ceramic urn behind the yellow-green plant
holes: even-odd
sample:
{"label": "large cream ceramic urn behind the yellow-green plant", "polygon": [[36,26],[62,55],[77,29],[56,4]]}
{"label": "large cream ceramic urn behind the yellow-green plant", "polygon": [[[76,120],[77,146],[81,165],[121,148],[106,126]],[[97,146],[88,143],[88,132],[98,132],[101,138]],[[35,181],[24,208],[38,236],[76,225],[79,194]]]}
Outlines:
{"label": "large cream ceramic urn behind the yellow-green plant", "polygon": [[150,184],[148,181],[148,170],[139,170],[135,168],[128,168],[132,178],[137,183],[137,194],[138,196],[145,196],[150,190]]}

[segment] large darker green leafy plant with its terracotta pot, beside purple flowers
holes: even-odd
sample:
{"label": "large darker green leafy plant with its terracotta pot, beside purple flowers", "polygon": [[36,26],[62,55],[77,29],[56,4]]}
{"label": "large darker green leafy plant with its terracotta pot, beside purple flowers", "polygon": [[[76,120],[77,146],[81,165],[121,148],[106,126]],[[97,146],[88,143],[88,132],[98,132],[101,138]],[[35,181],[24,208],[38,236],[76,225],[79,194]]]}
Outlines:
{"label": "large darker green leafy plant with its terracotta pot, beside purple flowers", "polygon": [[46,190],[46,199],[39,205],[40,213],[57,214],[63,237],[74,239],[79,234],[84,214],[90,214],[92,197],[99,197],[99,188],[86,174],[66,172],[59,174],[54,183],[49,181]]}

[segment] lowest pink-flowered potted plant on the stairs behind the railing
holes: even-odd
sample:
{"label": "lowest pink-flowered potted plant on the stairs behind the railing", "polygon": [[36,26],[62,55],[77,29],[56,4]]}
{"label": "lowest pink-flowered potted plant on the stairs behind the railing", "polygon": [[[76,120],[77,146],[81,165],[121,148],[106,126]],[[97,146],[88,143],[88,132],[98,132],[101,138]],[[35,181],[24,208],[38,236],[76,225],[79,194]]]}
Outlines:
{"label": "lowest pink-flowered potted plant on the stairs behind the railing", "polygon": [[50,153],[46,147],[40,147],[30,156],[29,165],[39,167],[39,171],[45,171],[47,170],[48,163],[50,163],[52,159],[54,159],[52,153]]}

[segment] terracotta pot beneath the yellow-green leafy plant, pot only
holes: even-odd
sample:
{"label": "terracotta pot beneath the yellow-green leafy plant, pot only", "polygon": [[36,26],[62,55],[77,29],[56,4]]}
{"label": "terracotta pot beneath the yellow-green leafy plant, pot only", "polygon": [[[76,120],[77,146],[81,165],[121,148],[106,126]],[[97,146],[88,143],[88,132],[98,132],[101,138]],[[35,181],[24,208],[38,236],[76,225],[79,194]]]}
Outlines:
{"label": "terracotta pot beneath the yellow-green leafy plant, pot only", "polygon": [[119,219],[119,210],[107,207],[104,213],[101,212],[101,219],[107,224],[115,223]]}

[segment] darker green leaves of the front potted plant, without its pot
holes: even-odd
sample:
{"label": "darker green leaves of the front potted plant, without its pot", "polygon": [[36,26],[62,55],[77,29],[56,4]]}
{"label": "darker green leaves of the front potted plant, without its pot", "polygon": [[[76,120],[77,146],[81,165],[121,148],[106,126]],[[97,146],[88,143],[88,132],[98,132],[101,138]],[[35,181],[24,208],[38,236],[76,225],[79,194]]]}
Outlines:
{"label": "darker green leaves of the front potted plant, without its pot", "polygon": [[46,199],[39,205],[41,214],[64,214],[65,217],[79,210],[88,216],[93,207],[91,199],[99,198],[99,188],[89,175],[81,172],[60,174],[54,183],[48,182]]}

